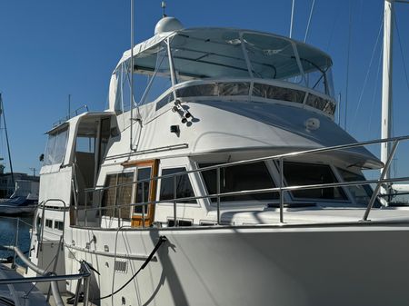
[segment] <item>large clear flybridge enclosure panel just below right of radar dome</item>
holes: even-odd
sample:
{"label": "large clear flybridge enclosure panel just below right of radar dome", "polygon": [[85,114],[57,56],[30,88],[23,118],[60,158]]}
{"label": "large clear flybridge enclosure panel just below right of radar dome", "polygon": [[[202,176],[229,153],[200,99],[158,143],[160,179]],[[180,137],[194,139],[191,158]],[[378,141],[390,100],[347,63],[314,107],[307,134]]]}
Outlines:
{"label": "large clear flybridge enclosure panel just below right of radar dome", "polygon": [[171,42],[175,72],[181,80],[249,77],[238,32],[185,31]]}

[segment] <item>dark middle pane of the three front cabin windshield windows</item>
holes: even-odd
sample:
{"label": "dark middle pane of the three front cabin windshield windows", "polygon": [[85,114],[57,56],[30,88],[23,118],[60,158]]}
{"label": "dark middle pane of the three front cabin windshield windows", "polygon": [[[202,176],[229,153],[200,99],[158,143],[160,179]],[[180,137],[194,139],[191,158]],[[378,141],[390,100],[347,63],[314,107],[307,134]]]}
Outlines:
{"label": "dark middle pane of the three front cabin windshield windows", "polygon": [[[287,186],[337,183],[331,167],[326,164],[284,162],[284,177]],[[314,188],[292,191],[295,198],[346,200],[340,187]]]}

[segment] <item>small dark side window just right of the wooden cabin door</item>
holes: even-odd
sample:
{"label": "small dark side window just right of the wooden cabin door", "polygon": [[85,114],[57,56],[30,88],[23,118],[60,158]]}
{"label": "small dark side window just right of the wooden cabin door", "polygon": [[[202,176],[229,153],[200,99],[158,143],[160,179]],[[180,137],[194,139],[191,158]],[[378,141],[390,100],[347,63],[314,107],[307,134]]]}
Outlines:
{"label": "small dark side window just right of the wooden cabin door", "polygon": [[[179,168],[168,168],[162,169],[161,175],[170,175],[175,173],[184,173],[186,171],[185,167]],[[176,198],[190,198],[195,196],[195,192],[193,191],[192,184],[189,180],[189,175],[181,174],[176,175]],[[174,176],[165,177],[160,179],[161,181],[161,192],[160,192],[160,200],[173,200],[174,199]],[[195,203],[196,200],[188,200],[183,201],[186,203]]]}

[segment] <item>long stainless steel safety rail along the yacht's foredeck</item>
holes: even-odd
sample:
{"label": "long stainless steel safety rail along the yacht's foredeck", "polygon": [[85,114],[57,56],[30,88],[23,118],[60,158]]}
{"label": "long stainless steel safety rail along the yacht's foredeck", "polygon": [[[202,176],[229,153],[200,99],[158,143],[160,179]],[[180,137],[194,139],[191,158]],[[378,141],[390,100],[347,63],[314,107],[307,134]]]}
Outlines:
{"label": "long stainless steel safety rail along the yacht's foredeck", "polygon": [[[267,156],[267,157],[261,157],[261,158],[254,158],[254,159],[249,159],[249,160],[244,160],[244,161],[238,161],[238,162],[232,162],[232,163],[223,163],[223,164],[216,164],[216,165],[211,165],[207,167],[203,167],[200,169],[195,169],[195,170],[189,170],[185,172],[180,172],[180,173],[174,173],[174,174],[166,174],[166,175],[161,175],[161,176],[156,176],[153,178],[145,179],[145,180],[139,180],[139,181],[134,181],[130,183],[119,183],[116,185],[112,186],[101,186],[95,189],[85,189],[85,206],[82,209],[85,212],[85,224],[84,226],[87,227],[87,213],[91,211],[98,211],[98,212],[103,212],[103,211],[108,211],[112,210],[114,212],[114,217],[115,215],[118,216],[118,227],[120,226],[120,216],[121,216],[121,209],[123,208],[132,208],[132,207],[137,207],[137,206],[142,206],[142,218],[145,221],[145,205],[148,204],[156,204],[156,203],[169,203],[173,202],[174,203],[174,226],[177,225],[177,202],[186,202],[186,201],[191,201],[191,200],[199,200],[199,199],[211,199],[211,198],[216,198],[216,224],[220,225],[221,224],[221,215],[220,215],[220,208],[221,208],[221,202],[220,199],[226,196],[232,196],[232,195],[245,195],[245,194],[253,194],[253,193],[261,193],[261,192],[278,192],[279,193],[279,216],[280,216],[280,222],[284,223],[284,194],[285,192],[291,192],[291,191],[298,191],[298,190],[309,190],[309,189],[321,189],[321,188],[334,188],[334,187],[348,187],[348,186],[358,186],[358,185],[366,185],[366,184],[375,184],[374,192],[366,206],[366,210],[364,212],[364,216],[362,220],[360,221],[367,221],[369,213],[371,212],[371,209],[374,206],[374,202],[376,201],[376,198],[379,195],[380,189],[383,184],[388,184],[388,183],[396,183],[396,182],[404,182],[404,181],[409,181],[409,176],[406,177],[396,177],[394,179],[390,178],[385,178],[386,173],[388,173],[390,165],[393,161],[394,158],[394,153],[396,152],[397,146],[399,143],[404,142],[409,140],[409,136],[402,136],[402,137],[393,137],[393,138],[387,138],[387,139],[380,139],[380,140],[374,140],[374,141],[366,141],[366,142],[360,142],[360,143],[348,143],[348,144],[341,144],[341,145],[335,145],[331,147],[324,147],[324,148],[318,148],[318,149],[311,149],[311,150],[304,150],[300,152],[294,152],[294,153],[284,153],[284,154],[277,154],[277,155],[272,155],[272,156]],[[294,157],[299,157],[307,154],[317,154],[317,153],[328,153],[328,152],[333,152],[333,151],[343,151],[346,149],[352,149],[356,147],[363,147],[367,145],[372,145],[372,144],[378,144],[378,143],[393,143],[391,153],[388,157],[388,160],[386,163],[384,163],[384,168],[383,171],[379,177],[379,179],[374,179],[374,180],[364,180],[364,181],[352,181],[352,182],[338,182],[338,183],[320,183],[320,184],[307,184],[307,185],[294,185],[294,186],[286,186],[284,185],[284,161],[288,160],[290,158]],[[254,190],[244,190],[244,191],[237,191],[237,192],[221,192],[220,184],[220,173],[221,169],[230,167],[230,166],[235,166],[235,165],[241,165],[241,164],[246,164],[246,163],[257,163],[257,162],[265,162],[265,161],[276,161],[278,162],[278,167],[279,167],[279,186],[277,187],[272,187],[272,188],[263,188],[263,189],[254,189]],[[199,196],[191,196],[191,197],[177,197],[176,195],[176,178],[178,176],[186,175],[189,173],[203,173],[205,171],[209,170],[216,170],[216,193],[213,194],[205,194],[205,195],[199,195]],[[173,178],[174,179],[174,198],[170,200],[159,200],[159,201],[145,201],[143,198],[142,202],[137,202],[137,203],[126,203],[126,204],[116,204],[116,205],[107,205],[107,206],[102,206],[102,195],[103,192],[106,190],[109,190],[111,188],[118,188],[118,187],[124,187],[128,185],[134,185],[134,184],[139,184],[141,183],[143,188],[144,188],[144,183],[149,183],[149,182],[157,182],[158,180],[162,180],[165,178]],[[96,198],[97,202],[99,203],[98,207],[87,207],[87,194],[92,193],[93,196],[91,199],[95,202],[94,199],[94,194],[98,194],[98,197]],[[144,195],[145,192],[143,192]],[[75,207],[75,211],[78,210],[78,206]],[[118,212],[119,210],[119,212]],[[118,213],[116,213],[118,212]],[[77,215],[77,213],[75,213]],[[102,216],[102,213],[100,213]],[[75,221],[77,222],[77,221]],[[143,222],[143,227],[145,226],[145,222]]]}

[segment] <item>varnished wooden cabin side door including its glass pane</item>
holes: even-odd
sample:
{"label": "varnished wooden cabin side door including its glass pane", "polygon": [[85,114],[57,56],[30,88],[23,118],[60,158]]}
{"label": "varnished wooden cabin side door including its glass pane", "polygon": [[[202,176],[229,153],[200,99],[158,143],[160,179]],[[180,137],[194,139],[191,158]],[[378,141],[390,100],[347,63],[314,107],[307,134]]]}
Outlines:
{"label": "varnished wooden cabin side door including its glass pane", "polygon": [[[151,160],[144,162],[127,162],[123,164],[124,167],[135,168],[135,181],[137,182],[134,187],[135,203],[155,201],[157,182],[152,179],[157,176],[158,163],[159,160]],[[150,180],[140,182],[146,179]],[[155,204],[150,203],[144,206],[134,206],[131,210],[131,218],[133,227],[143,226],[144,219],[145,227],[149,227],[155,220]]]}

